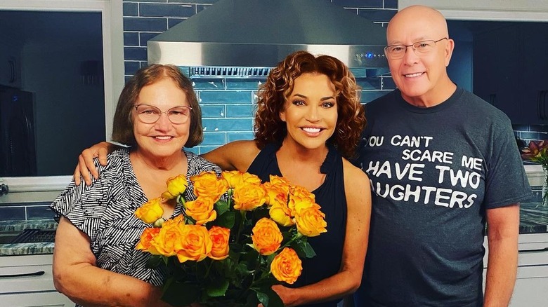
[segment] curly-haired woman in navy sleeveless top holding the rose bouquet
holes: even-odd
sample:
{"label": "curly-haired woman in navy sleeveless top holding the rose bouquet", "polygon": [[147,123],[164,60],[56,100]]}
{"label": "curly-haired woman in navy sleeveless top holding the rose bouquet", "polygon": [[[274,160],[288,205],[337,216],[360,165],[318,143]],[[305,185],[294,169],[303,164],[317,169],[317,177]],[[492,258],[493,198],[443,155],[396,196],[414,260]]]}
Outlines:
{"label": "curly-haired woman in navy sleeveless top holding the rose bouquet", "polygon": [[[371,195],[367,175],[347,160],[365,125],[358,90],[351,71],[337,58],[292,53],[259,88],[255,139],[203,155],[223,170],[247,171],[263,181],[283,176],[315,194],[327,233],[309,238],[316,256],[303,260],[294,285],[273,287],[285,306],[334,307],[360,285]],[[107,147],[102,144],[86,149],[80,160],[101,156]],[[88,174],[87,169],[81,173]]]}

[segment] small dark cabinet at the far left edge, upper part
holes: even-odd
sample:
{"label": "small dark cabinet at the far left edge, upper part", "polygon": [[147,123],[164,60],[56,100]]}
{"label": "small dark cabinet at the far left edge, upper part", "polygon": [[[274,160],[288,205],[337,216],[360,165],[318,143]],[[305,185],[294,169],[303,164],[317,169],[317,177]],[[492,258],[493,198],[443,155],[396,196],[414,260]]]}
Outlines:
{"label": "small dark cabinet at the far left edge, upper part", "polygon": [[21,50],[15,39],[0,34],[0,85],[22,87]]}

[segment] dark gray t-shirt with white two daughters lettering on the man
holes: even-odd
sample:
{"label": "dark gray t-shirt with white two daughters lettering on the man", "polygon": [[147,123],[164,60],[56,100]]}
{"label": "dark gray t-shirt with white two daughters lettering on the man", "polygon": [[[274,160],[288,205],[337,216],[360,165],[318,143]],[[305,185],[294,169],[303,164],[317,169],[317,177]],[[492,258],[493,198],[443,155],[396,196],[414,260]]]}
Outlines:
{"label": "dark gray t-shirt with white two daughters lettering on the man", "polygon": [[419,108],[365,106],[355,163],[372,219],[356,306],[482,306],[485,210],[532,196],[509,118],[462,88]]}

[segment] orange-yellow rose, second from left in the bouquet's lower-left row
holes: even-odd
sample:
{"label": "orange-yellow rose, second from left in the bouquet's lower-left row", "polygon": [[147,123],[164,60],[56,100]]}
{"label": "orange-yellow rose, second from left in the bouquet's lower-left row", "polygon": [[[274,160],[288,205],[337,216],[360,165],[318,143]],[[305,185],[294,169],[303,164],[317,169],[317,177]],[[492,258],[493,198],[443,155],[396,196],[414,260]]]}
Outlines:
{"label": "orange-yellow rose, second from left in the bouquet's lower-left row", "polygon": [[175,256],[178,250],[181,250],[181,230],[185,226],[180,220],[168,219],[159,228],[157,235],[150,240],[150,245],[154,247],[158,254],[164,256]]}

